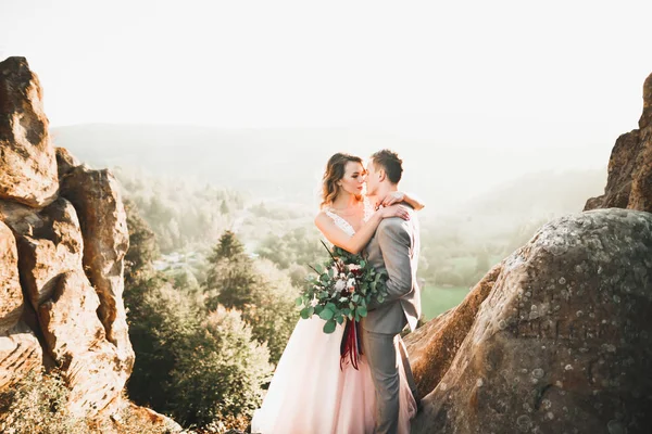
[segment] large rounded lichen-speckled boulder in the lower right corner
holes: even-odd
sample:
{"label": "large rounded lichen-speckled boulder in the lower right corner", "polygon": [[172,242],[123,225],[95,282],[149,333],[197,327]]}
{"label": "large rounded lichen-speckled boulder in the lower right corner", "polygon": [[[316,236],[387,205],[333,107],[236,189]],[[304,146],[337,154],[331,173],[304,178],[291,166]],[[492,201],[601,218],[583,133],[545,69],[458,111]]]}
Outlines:
{"label": "large rounded lichen-speckled boulder in the lower right corner", "polygon": [[546,225],[503,261],[413,433],[652,432],[651,309],[652,214]]}

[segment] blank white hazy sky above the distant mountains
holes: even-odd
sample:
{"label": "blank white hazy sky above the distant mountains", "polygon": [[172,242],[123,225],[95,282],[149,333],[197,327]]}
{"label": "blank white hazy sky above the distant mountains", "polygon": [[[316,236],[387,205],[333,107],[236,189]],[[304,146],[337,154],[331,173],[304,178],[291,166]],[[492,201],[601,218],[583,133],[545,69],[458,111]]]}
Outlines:
{"label": "blank white hazy sky above the distant mountains", "polygon": [[27,58],[52,126],[354,127],[605,165],[641,113],[651,16],[649,0],[0,0],[0,58]]}

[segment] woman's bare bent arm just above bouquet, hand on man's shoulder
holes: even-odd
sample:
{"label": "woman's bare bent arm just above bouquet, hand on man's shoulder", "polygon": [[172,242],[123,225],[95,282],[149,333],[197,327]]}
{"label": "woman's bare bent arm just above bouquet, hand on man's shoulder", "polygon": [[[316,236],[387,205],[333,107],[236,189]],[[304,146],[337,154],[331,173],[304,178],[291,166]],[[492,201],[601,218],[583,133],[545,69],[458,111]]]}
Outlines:
{"label": "woman's bare bent arm just above bouquet, hand on man's shoulder", "polygon": [[410,218],[410,214],[401,205],[379,209],[352,237],[338,228],[335,221],[324,212],[317,214],[315,225],[333,244],[356,255],[367,245],[380,220],[389,217],[401,217],[406,220]]}

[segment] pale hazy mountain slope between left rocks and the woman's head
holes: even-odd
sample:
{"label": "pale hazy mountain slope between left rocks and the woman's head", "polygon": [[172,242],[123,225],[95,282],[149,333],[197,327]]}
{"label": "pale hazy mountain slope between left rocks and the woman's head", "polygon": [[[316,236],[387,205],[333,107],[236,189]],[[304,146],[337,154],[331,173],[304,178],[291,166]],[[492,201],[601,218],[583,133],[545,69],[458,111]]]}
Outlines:
{"label": "pale hazy mountain slope between left rocks and the woman's head", "polygon": [[[52,132],[57,145],[93,166],[140,167],[155,175],[197,177],[259,195],[311,197],[317,183],[314,168],[326,161],[318,146],[315,152],[315,146],[305,145],[300,131],[80,125]],[[319,138],[328,141],[327,137]]]}

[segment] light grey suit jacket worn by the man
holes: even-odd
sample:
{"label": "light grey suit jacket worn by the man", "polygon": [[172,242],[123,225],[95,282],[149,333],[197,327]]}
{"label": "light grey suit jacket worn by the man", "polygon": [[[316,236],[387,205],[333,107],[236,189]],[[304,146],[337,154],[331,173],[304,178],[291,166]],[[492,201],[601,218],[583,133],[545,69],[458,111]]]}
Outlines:
{"label": "light grey suit jacket worn by the man", "polygon": [[416,212],[410,220],[400,217],[380,221],[376,233],[365,248],[366,260],[378,271],[385,270],[387,296],[383,303],[374,299],[367,306],[362,327],[371,332],[397,334],[410,324],[416,329],[421,316],[421,292],[416,283],[419,254],[419,225]]}

